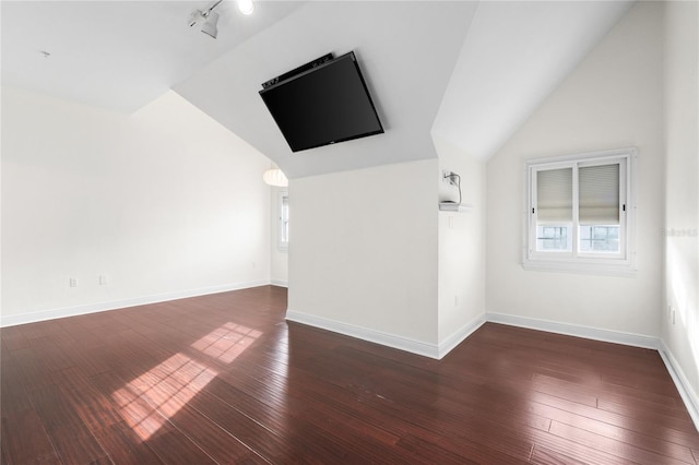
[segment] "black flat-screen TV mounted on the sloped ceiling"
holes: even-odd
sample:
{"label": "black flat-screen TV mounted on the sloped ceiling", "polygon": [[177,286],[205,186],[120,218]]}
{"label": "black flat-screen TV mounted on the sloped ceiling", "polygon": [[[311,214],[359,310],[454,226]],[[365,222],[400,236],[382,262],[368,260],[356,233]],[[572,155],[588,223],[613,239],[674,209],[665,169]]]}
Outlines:
{"label": "black flat-screen TV mounted on the sloped ceiling", "polygon": [[383,132],[354,52],[330,57],[260,91],[292,152]]}

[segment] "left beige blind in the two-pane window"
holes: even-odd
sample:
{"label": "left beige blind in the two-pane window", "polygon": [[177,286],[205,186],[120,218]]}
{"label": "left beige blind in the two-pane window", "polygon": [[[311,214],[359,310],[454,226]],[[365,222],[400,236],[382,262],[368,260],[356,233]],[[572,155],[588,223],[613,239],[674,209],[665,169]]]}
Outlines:
{"label": "left beige blind in the two-pane window", "polygon": [[572,168],[536,172],[536,208],[540,223],[572,222]]}

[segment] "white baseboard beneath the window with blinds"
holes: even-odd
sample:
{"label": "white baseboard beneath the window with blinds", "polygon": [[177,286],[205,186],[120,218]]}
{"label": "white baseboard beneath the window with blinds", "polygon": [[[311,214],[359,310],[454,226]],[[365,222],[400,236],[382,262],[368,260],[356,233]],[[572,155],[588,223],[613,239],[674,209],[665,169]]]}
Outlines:
{"label": "white baseboard beneath the window with blinds", "polygon": [[599,327],[581,326],[577,324],[560,323],[549,320],[517,317],[505,313],[486,313],[486,321],[502,323],[510,326],[528,327],[530,330],[546,331],[549,333],[565,334],[568,336],[584,337],[585,339],[602,341],[605,343],[624,344],[633,347],[659,348],[657,337],[642,334],[623,333],[619,331],[601,330]]}

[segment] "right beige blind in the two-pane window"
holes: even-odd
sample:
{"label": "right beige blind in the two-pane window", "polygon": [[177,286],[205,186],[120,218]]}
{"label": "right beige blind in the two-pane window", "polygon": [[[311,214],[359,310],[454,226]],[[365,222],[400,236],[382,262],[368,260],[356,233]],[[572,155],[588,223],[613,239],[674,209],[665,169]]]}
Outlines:
{"label": "right beige blind in the two-pane window", "polygon": [[578,168],[581,225],[619,224],[619,164]]}

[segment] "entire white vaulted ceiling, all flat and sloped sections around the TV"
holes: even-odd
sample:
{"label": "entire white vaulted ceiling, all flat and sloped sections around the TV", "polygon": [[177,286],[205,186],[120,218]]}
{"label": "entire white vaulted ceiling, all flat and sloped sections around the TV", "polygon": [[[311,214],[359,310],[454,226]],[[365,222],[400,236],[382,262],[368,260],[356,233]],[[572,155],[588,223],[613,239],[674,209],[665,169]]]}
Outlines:
{"label": "entire white vaulted ceiling, all flat and sloped sections around the TV", "polygon": [[[174,88],[289,177],[438,156],[487,159],[626,13],[628,1],[2,1],[2,84],[119,111]],[[386,133],[293,154],[260,84],[354,50]],[[50,53],[46,58],[42,51]]]}

